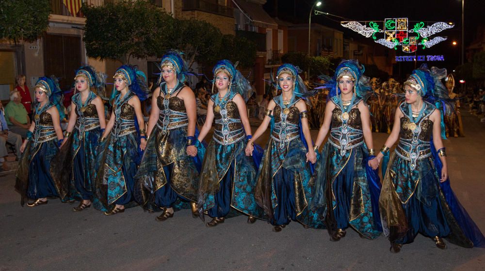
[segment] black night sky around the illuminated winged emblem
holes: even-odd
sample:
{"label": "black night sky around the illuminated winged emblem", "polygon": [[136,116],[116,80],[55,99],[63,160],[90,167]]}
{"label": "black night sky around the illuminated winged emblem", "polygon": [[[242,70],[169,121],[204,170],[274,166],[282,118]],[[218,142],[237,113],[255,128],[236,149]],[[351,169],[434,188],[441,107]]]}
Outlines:
{"label": "black night sky around the illuminated winged emblem", "polygon": [[[310,7],[314,2],[315,0],[268,0],[264,9],[270,15],[275,16],[275,3],[277,3],[279,19],[293,23],[308,23]],[[448,40],[431,48],[419,48],[417,53],[418,55],[444,55],[446,61],[442,65],[448,69],[453,69],[459,63],[461,0],[322,0],[322,2],[323,4],[317,8],[318,10],[356,21],[382,21],[384,18],[407,17],[410,21],[454,22],[453,29],[444,30],[432,36],[447,36]],[[476,38],[477,26],[485,25],[484,16],[485,0],[465,0],[465,48]],[[366,39],[364,36],[340,26],[340,20],[343,19],[326,15],[312,17],[312,23],[320,23],[343,31],[345,38]],[[409,27],[411,27],[411,23]],[[458,44],[453,46],[453,41]],[[398,55],[409,54],[403,53],[399,48]]]}

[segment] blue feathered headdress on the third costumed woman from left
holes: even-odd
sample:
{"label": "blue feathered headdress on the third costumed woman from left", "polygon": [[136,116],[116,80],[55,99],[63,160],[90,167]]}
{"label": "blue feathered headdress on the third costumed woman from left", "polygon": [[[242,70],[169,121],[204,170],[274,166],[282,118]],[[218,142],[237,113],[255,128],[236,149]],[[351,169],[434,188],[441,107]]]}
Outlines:
{"label": "blue feathered headdress on the third costumed woman from left", "polygon": [[[121,77],[128,85],[129,90],[138,96],[140,101],[146,100],[149,90],[146,86],[146,75],[142,71],[130,65],[123,65],[114,73],[113,78],[116,77]],[[110,98],[111,101],[114,100],[116,94],[116,89],[113,88]]]}

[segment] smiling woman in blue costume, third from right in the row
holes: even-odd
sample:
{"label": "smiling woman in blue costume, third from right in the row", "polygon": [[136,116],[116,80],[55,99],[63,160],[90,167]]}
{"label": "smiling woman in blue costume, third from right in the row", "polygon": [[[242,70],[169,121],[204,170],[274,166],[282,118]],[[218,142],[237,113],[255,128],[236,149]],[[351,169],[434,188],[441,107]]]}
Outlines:
{"label": "smiling woman in blue costume, third from right in the row", "polygon": [[309,185],[312,169],[308,162],[315,163],[317,157],[311,148],[307,104],[302,99],[316,91],[307,92],[297,67],[291,64],[281,65],[276,75],[277,88],[282,94],[270,101],[261,125],[245,150],[246,155],[252,154],[254,141],[271,122],[271,137],[259,166],[255,198],[275,232],[291,220],[322,228],[318,214],[308,208],[312,195]]}

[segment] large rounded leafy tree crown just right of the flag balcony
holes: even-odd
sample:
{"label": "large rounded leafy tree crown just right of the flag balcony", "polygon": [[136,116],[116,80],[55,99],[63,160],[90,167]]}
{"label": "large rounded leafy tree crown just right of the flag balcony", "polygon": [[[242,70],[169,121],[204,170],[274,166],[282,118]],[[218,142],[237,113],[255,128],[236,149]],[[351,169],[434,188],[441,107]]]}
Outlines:
{"label": "large rounded leafy tree crown just right of the flag balcony", "polygon": [[83,6],[86,17],[84,43],[89,57],[129,63],[164,51],[173,18],[146,0],[107,2]]}

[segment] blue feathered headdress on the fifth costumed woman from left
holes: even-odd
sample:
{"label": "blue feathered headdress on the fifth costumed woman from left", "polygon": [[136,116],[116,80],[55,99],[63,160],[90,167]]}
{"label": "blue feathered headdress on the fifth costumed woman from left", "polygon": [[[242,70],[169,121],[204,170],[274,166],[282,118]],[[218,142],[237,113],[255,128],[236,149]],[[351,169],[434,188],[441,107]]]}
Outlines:
{"label": "blue feathered headdress on the fifth costumed woman from left", "polygon": [[241,72],[236,69],[237,65],[238,62],[233,65],[232,62],[229,60],[218,61],[212,69],[212,72],[214,73],[214,80],[212,80],[212,90],[214,89],[215,85],[215,75],[223,72],[229,76],[229,91],[235,91],[241,94],[244,101],[247,102],[251,95],[253,95],[254,90],[246,77],[244,77]]}

